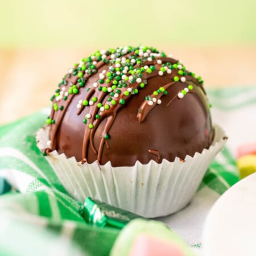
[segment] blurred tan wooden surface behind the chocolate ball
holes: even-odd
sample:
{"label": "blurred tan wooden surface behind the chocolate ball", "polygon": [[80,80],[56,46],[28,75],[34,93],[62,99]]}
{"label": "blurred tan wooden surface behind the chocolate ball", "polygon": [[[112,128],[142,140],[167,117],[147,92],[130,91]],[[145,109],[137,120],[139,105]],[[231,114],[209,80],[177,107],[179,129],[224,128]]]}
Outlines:
{"label": "blurred tan wooden surface behind the chocolate ball", "polygon": [[[50,105],[68,68],[94,50],[0,49],[0,124]],[[205,88],[256,85],[256,46],[163,50],[203,77]]]}

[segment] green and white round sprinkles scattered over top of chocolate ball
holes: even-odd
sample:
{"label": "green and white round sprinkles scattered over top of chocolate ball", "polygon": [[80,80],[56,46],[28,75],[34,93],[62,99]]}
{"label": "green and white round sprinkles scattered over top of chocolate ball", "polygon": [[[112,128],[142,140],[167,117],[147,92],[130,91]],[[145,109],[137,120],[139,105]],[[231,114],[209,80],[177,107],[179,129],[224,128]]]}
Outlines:
{"label": "green and white round sprinkles scattered over top of chocolate ball", "polygon": [[[106,69],[98,73],[98,69],[104,65],[106,65]],[[59,88],[51,97],[51,100],[54,101],[53,111],[62,111],[64,102],[73,94],[79,94],[89,77],[96,73],[96,79],[92,87],[86,88],[88,93],[93,90],[92,97],[80,98],[76,105],[79,111],[86,106],[97,105],[97,114],[92,116],[88,113],[83,120],[90,129],[94,127],[93,120],[99,119],[102,113],[111,110],[115,105],[125,105],[130,94],[137,94],[140,89],[147,86],[147,79],[151,75],[170,76],[170,79],[174,82],[186,82],[187,76],[190,76],[203,84],[201,77],[196,77],[195,73],[188,72],[180,61],[175,61],[171,55],[167,56],[156,48],[126,46],[117,49],[103,49],[81,59],[79,64],[75,63],[73,68],[68,69],[68,73],[58,85]],[[189,84],[177,93],[177,98],[183,98],[192,89],[193,86]],[[102,100],[105,97],[95,96],[97,90],[106,94],[107,100]],[[153,92],[153,95],[157,96],[159,93],[166,95],[167,90],[160,87]],[[147,96],[145,100],[150,106],[155,102],[161,104],[161,100],[156,97]],[[92,119],[92,122],[89,122],[90,119]],[[54,124],[53,116],[48,117],[46,123]]]}

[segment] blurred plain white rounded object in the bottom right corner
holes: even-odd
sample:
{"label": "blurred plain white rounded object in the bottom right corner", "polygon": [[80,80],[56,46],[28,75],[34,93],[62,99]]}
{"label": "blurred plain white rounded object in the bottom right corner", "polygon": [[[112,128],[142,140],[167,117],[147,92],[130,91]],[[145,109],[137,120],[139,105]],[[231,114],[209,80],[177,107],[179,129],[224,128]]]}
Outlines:
{"label": "blurred plain white rounded object in the bottom right corner", "polygon": [[256,255],[256,173],[213,205],[204,226],[203,255]]}

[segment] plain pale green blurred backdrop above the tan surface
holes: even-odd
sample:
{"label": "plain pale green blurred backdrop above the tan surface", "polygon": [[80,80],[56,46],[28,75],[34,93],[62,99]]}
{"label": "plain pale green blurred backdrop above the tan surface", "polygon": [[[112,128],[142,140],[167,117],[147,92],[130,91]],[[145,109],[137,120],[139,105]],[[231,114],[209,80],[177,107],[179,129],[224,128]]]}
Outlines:
{"label": "plain pale green blurred backdrop above the tan surface", "polygon": [[0,0],[0,47],[256,43],[256,1]]}

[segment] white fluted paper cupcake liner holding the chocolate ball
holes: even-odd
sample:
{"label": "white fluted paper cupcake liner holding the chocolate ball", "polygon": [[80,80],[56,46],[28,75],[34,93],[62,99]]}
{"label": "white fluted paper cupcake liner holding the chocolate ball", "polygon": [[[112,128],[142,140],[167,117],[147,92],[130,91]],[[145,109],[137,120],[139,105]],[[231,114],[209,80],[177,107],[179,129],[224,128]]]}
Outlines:
{"label": "white fluted paper cupcake liner holding the chocolate ball", "polygon": [[[212,146],[193,157],[187,155],[185,162],[175,158],[162,163],[137,161],[129,167],[112,167],[110,162],[99,166],[97,162],[81,164],[56,150],[46,159],[69,195],[82,203],[90,196],[144,217],[166,216],[189,203],[210,162],[224,146],[224,131],[217,125],[214,130]],[[40,149],[47,148],[48,134],[49,127],[36,134]]]}

